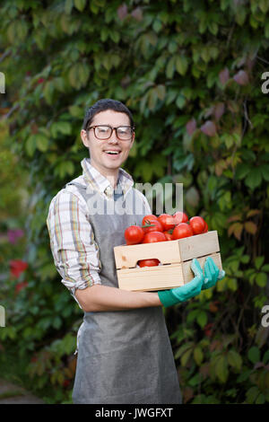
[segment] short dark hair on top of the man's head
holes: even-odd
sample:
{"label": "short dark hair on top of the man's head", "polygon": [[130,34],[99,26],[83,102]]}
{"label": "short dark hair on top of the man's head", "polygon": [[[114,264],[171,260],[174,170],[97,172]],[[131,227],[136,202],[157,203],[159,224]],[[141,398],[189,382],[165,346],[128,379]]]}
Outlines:
{"label": "short dark hair on top of the man's head", "polygon": [[122,102],[105,98],[103,100],[95,102],[95,104],[93,104],[90,109],[86,110],[82,129],[87,130],[87,127],[91,125],[91,121],[94,116],[100,113],[100,111],[106,110],[114,110],[118,111],[119,113],[126,113],[128,118],[130,119],[131,127],[134,127],[134,120],[131,111],[127,109],[127,107]]}

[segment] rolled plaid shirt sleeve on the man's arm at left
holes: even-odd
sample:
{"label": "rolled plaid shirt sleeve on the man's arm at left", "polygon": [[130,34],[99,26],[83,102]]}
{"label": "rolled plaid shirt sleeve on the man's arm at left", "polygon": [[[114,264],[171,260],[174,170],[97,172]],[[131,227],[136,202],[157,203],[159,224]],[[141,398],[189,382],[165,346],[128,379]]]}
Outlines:
{"label": "rolled plaid shirt sleeve on the man's arm at left", "polygon": [[71,294],[100,285],[99,248],[82,200],[73,192],[58,192],[48,209],[47,226],[56,269]]}

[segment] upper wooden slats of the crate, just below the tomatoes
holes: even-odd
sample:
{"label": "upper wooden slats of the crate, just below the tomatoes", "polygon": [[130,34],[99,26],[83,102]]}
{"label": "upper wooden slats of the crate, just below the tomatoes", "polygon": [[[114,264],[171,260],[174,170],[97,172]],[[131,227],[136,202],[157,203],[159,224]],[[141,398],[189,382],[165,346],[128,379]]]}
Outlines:
{"label": "upper wooden slats of the crate, just below the tomatoes", "polygon": [[135,268],[140,259],[159,259],[173,264],[220,251],[217,231],[178,239],[177,241],[121,245],[114,248],[116,268]]}

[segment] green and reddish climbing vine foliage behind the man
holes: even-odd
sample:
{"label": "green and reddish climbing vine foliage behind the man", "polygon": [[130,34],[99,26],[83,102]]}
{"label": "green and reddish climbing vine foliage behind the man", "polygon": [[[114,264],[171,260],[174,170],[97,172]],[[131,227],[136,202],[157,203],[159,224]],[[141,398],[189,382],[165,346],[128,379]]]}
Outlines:
{"label": "green and reddish climbing vine foliage behind the man", "polygon": [[[84,110],[133,111],[136,182],[183,182],[227,277],[166,310],[186,403],[269,402],[267,0],[11,0],[0,6],[1,375],[71,402],[82,312],[49,250],[51,198],[81,174]],[[8,233],[24,235],[10,242]],[[14,273],[13,259],[27,268]]]}

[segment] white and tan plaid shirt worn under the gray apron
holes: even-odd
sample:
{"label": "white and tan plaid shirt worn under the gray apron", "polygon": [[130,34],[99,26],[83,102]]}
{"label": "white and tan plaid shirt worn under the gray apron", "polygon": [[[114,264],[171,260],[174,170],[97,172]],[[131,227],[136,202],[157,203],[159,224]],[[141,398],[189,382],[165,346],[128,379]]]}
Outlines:
{"label": "white and tan plaid shirt worn under the gray apron", "polygon": [[[92,167],[91,159],[84,158],[81,164],[82,176],[72,181],[82,183],[84,186],[90,184],[91,189],[98,190],[107,198],[112,198],[113,188],[108,179]],[[133,187],[134,180],[120,168],[117,183],[126,195],[126,192]],[[143,198],[151,214],[151,207],[147,199],[144,196]],[[77,303],[74,295],[77,288],[84,289],[101,284],[99,248],[94,242],[88,214],[87,204],[74,185],[61,189],[52,198],[48,209],[47,226],[56,269],[62,277],[62,283]]]}

